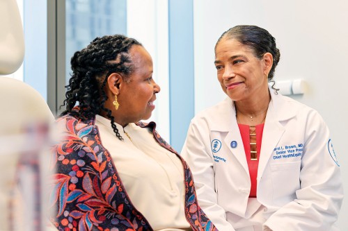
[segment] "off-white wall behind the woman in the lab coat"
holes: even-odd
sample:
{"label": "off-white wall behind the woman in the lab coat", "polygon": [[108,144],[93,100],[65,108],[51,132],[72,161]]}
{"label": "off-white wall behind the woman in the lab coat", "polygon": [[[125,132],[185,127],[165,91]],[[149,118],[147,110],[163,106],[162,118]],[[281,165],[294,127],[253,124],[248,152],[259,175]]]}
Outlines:
{"label": "off-white wall behind the woman in the lab coat", "polygon": [[[225,98],[216,79],[214,45],[237,24],[266,28],[280,49],[275,80],[303,78],[307,90],[294,99],[322,114],[331,130],[348,193],[348,1],[194,0],[195,111]],[[348,199],[338,225],[348,230]]]}

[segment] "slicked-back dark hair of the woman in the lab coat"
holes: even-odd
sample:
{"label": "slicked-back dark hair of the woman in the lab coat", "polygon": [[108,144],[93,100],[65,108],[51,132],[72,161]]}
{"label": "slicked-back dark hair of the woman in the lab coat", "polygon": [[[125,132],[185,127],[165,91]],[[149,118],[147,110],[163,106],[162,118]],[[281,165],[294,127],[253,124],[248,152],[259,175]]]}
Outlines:
{"label": "slicked-back dark hair of the woman in the lab coat", "polygon": [[273,65],[269,71],[268,80],[274,83],[274,71],[280,60],[280,51],[276,47],[276,39],[267,30],[253,25],[234,26],[219,37],[215,45],[215,50],[223,38],[227,38],[228,40],[235,39],[241,44],[248,46],[258,59],[261,59],[264,53],[271,53],[273,56]]}

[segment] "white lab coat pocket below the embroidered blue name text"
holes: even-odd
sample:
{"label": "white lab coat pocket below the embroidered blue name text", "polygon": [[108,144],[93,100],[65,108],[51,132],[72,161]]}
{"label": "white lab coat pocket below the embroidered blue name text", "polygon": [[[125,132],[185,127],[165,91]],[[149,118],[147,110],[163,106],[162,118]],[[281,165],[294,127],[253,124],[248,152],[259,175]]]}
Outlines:
{"label": "white lab coat pocket below the embroidered blue name text", "polygon": [[284,205],[296,198],[300,188],[301,161],[270,164],[273,185],[273,200]]}

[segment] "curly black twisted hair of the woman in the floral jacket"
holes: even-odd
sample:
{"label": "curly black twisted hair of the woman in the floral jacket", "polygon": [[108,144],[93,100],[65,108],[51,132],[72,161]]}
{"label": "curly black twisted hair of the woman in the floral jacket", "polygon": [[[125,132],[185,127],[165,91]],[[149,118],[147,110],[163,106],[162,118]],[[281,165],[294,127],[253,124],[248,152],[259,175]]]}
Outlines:
{"label": "curly black twisted hair of the woman in the floral jacket", "polygon": [[[60,116],[71,114],[81,120],[93,119],[96,114],[106,112],[111,119],[111,127],[118,139],[123,139],[114,124],[111,110],[104,107],[108,99],[104,92],[107,82],[106,76],[120,73],[128,78],[133,71],[132,60],[129,58],[129,49],[142,44],[125,35],[105,35],[96,37],[86,48],[77,51],[71,58],[72,76],[65,86],[65,111]],[[74,110],[75,105],[79,110]]]}

